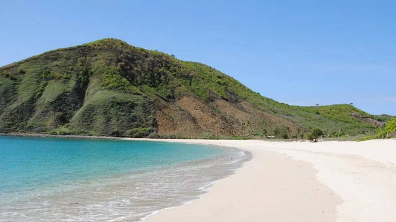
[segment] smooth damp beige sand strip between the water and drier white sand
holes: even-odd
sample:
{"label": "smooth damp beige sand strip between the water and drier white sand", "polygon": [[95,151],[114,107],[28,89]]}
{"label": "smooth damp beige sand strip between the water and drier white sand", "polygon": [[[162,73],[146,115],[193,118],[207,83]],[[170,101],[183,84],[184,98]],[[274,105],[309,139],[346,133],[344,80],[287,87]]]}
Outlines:
{"label": "smooth damp beige sand strip between the water and drier white sand", "polygon": [[[249,152],[251,155],[251,159],[244,162],[242,167],[236,169],[234,174],[229,175],[226,178],[215,181],[212,186],[206,189],[206,193],[199,196],[199,199],[195,199],[189,203],[175,206],[167,209],[162,209],[161,211],[154,212],[153,214],[146,216],[143,218],[143,221],[146,222],[162,222],[162,221],[185,221],[191,220],[192,222],[198,221],[262,221],[270,220],[270,221],[334,221],[336,218],[336,207],[339,205],[342,200],[339,196],[334,195],[332,191],[321,184],[320,182],[314,180],[316,171],[313,167],[302,161],[295,161],[291,158],[280,155],[273,151],[261,151],[260,149],[251,149],[249,147],[242,147],[240,145],[236,145],[233,140],[201,140],[201,139],[139,139],[139,138],[122,138],[123,140],[145,140],[145,141],[167,141],[174,143],[188,143],[188,144],[201,144],[201,145],[216,145],[221,147],[230,147],[234,149],[240,149],[244,152]],[[240,141],[240,144],[242,141]],[[257,142],[257,141],[256,141]],[[262,162],[262,160],[264,161]],[[255,174],[264,173],[263,175],[248,175],[248,171],[251,171],[252,168],[257,167],[257,163],[263,166],[261,169],[264,171],[256,172]],[[286,164],[285,166],[282,166]],[[282,170],[286,177],[291,176],[289,174],[289,167],[297,164],[299,173],[294,171],[294,175],[288,178],[288,182],[285,183],[283,180],[279,180],[278,172],[270,172],[269,167],[271,169],[277,168],[277,170]],[[247,165],[247,166],[246,166]],[[282,174],[283,174],[282,173]],[[254,187],[241,187],[245,184],[238,183],[240,181],[240,177],[246,175],[247,177],[244,181],[248,181],[250,184],[257,184]],[[261,189],[262,184],[260,183],[263,180],[263,177],[267,177],[266,179],[269,181],[274,181],[274,183],[267,184],[269,186],[265,186]],[[305,182],[297,184],[298,188],[292,182],[299,177],[304,177]],[[280,182],[280,183],[279,183]],[[233,188],[229,186],[230,184],[236,184],[237,188]],[[303,187],[304,185],[306,187]],[[235,196],[234,192],[236,190],[242,190],[240,195]],[[293,190],[301,189],[303,192],[296,193],[295,198],[293,195],[290,196]],[[318,191],[320,188],[320,191]],[[249,198],[249,194],[251,190],[271,190],[272,196],[257,196],[253,201]],[[313,189],[317,189],[316,192],[311,192]],[[228,194],[224,195],[224,190],[227,190]],[[248,194],[243,193],[244,190],[248,190]],[[276,190],[276,192],[274,192]],[[285,195],[280,195],[280,193],[284,193]],[[222,194],[223,193],[223,194]],[[258,194],[256,192],[256,194]],[[247,195],[247,198],[244,196]],[[268,198],[268,199],[267,199]],[[282,199],[283,201],[277,201],[274,204],[276,199]],[[289,201],[287,200],[289,199]],[[300,199],[302,203],[311,201],[310,204],[304,205],[304,207],[296,207],[295,201],[296,199]],[[240,202],[246,203],[241,205]],[[258,210],[257,207],[252,206],[251,204],[256,205],[262,204],[265,209]],[[221,207],[223,204],[227,204],[232,211],[228,211],[225,208],[223,214],[219,214],[219,211],[224,208]],[[283,205],[283,207],[280,207]],[[236,209],[235,209],[236,208]],[[238,209],[241,208],[241,209]],[[260,207],[261,208],[261,207]],[[287,209],[289,214],[285,214],[283,211]],[[237,211],[242,211],[239,213],[235,213]],[[264,211],[260,214],[255,212]],[[265,217],[260,217],[262,213],[267,214]]]}

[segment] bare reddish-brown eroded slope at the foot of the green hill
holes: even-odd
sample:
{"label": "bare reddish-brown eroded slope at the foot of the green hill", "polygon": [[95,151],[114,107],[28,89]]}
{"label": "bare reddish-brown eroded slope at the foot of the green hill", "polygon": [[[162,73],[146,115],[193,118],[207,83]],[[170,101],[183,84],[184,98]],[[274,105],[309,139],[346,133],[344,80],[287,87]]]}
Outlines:
{"label": "bare reddish-brown eroded slope at the foot of the green hill", "polygon": [[295,134],[299,126],[281,117],[260,111],[247,102],[228,102],[215,98],[205,103],[193,95],[184,95],[175,102],[157,100],[155,114],[158,133],[180,137],[221,137],[269,134],[276,128]]}

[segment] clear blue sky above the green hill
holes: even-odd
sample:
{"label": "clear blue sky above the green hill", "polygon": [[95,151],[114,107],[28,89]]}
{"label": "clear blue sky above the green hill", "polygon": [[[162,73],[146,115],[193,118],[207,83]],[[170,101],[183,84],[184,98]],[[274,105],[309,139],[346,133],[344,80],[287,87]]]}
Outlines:
{"label": "clear blue sky above the green hill", "polygon": [[0,66],[102,38],[202,62],[291,105],[396,115],[396,1],[1,0]]}

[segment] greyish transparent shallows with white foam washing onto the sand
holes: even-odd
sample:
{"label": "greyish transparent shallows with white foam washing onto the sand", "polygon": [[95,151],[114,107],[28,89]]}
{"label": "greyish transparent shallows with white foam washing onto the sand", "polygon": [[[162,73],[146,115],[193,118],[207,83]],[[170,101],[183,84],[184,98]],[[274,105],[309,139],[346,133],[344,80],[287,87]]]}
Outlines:
{"label": "greyish transparent shallows with white foam washing onto the sand", "polygon": [[248,156],[230,149],[212,159],[77,181],[52,190],[24,191],[27,196],[29,192],[34,195],[14,199],[7,207],[0,205],[0,219],[144,221],[164,209],[201,198],[208,187],[234,173]]}

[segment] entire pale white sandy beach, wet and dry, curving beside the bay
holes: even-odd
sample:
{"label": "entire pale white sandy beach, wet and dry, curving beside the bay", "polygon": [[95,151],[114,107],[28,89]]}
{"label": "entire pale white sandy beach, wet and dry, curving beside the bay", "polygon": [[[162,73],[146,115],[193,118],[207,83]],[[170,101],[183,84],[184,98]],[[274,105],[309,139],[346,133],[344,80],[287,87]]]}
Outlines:
{"label": "entire pale white sandy beach, wet and dry, curving beside the bay", "polygon": [[253,159],[190,204],[146,222],[395,222],[396,140],[170,140],[236,147]]}

